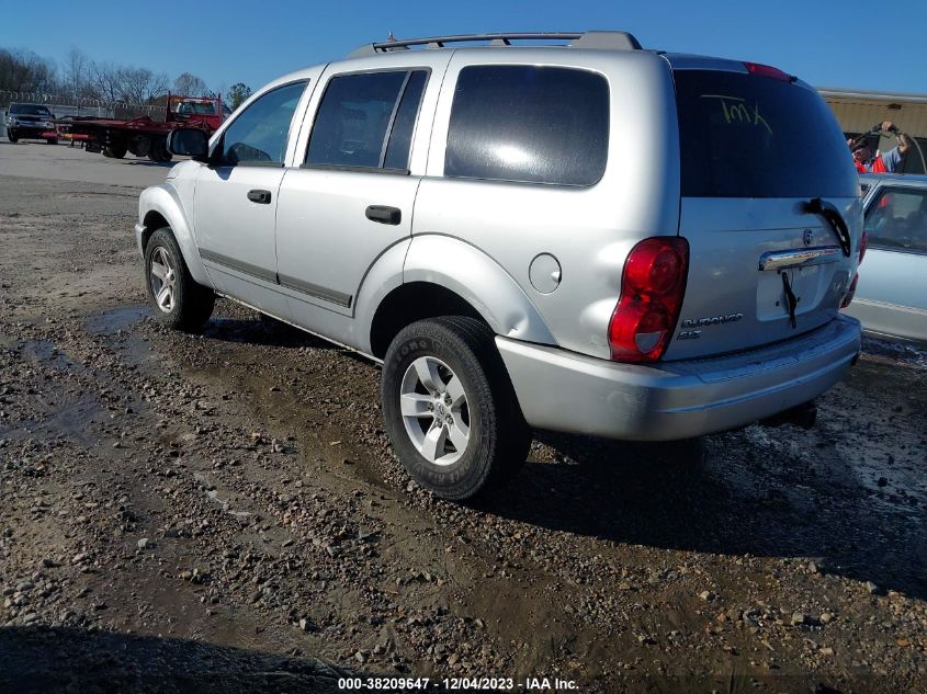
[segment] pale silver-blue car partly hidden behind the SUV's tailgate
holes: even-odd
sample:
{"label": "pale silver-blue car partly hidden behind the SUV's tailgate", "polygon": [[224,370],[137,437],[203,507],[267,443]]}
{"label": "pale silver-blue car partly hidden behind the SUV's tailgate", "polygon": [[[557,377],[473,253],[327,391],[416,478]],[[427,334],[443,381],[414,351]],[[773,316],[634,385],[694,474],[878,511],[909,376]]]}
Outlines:
{"label": "pale silver-blue car partly hidden behind the SUV's tailgate", "polygon": [[927,175],[859,179],[868,250],[845,310],[868,333],[927,344]]}

